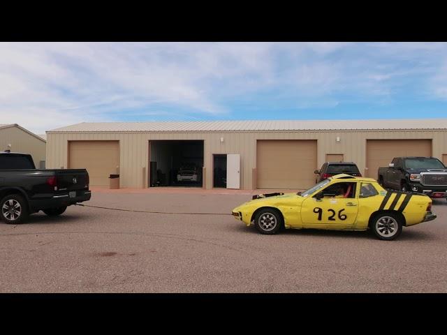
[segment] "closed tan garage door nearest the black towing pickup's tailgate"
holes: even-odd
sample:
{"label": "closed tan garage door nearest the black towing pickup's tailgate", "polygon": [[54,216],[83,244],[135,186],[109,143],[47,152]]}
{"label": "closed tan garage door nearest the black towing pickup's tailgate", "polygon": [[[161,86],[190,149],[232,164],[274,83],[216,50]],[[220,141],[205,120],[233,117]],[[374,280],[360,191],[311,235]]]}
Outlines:
{"label": "closed tan garage door nearest the black towing pickup's tailgate", "polygon": [[117,173],[118,141],[70,141],[68,154],[68,168],[87,169],[91,186],[109,186],[109,175]]}

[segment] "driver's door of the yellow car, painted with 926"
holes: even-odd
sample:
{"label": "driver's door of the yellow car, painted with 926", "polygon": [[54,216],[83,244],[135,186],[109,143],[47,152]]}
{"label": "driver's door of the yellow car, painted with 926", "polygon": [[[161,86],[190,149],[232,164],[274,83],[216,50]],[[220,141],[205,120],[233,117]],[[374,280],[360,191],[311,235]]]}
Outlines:
{"label": "driver's door of the yellow car, painted with 926", "polygon": [[[346,229],[356,223],[358,195],[356,181],[334,181],[302,202],[301,220],[303,228]],[[348,188],[344,195],[333,193],[337,187]],[[323,198],[318,199],[318,195]]]}

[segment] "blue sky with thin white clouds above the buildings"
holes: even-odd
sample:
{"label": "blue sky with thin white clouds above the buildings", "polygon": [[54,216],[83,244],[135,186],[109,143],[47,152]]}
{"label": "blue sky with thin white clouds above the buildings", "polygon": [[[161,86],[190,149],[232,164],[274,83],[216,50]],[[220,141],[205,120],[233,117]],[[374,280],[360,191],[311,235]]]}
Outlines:
{"label": "blue sky with thin white clouds above the buildings", "polygon": [[447,43],[0,43],[0,124],[441,118]]}

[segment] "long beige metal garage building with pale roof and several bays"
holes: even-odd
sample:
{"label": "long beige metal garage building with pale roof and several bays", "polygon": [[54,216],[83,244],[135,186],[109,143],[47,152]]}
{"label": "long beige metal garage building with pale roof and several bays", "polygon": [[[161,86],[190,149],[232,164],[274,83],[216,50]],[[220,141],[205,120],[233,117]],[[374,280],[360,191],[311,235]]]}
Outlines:
{"label": "long beige metal garage building with pale roof and several bays", "polygon": [[[110,122],[47,131],[48,168],[87,168],[91,186],[119,174],[120,186],[133,188],[303,189],[325,161],[353,161],[376,178],[395,156],[447,163],[447,119]],[[179,182],[185,170],[195,182]]]}

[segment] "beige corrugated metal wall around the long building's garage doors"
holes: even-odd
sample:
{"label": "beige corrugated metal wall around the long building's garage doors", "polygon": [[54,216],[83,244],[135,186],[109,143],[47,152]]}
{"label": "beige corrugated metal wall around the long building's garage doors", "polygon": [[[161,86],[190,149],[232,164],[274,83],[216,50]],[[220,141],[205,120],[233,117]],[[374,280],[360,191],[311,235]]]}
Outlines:
{"label": "beige corrugated metal wall around the long building's garage doors", "polygon": [[[340,141],[336,141],[336,137]],[[223,142],[220,138],[223,137]],[[256,168],[256,140],[317,140],[317,164],[329,153],[343,154],[365,171],[366,140],[432,139],[432,155],[447,153],[447,131],[290,131],[189,133],[47,133],[47,168],[67,167],[68,140],[119,140],[121,187],[147,185],[149,140],[204,140],[206,187],[212,187],[212,154],[240,154],[241,188],[251,189]],[[145,172],[143,172],[145,168]]]}

